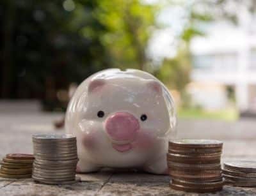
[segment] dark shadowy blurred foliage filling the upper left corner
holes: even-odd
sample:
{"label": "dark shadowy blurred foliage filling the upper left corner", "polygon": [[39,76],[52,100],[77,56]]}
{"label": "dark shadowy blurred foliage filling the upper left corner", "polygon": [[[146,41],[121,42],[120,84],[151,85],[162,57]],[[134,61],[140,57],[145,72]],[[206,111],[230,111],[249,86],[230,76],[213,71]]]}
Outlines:
{"label": "dark shadowy blurred foliage filling the upper left corner", "polygon": [[57,89],[109,67],[98,5],[70,2],[74,11],[63,1],[1,1],[1,97],[55,102]]}

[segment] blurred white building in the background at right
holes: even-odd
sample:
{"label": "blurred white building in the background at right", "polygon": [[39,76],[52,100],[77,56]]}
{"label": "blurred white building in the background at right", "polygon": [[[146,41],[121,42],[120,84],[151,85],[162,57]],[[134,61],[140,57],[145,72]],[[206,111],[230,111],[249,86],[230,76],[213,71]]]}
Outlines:
{"label": "blurred white building in the background at right", "polygon": [[207,28],[207,36],[191,41],[193,101],[222,109],[231,89],[241,113],[256,114],[256,17],[241,9],[237,26],[218,22]]}

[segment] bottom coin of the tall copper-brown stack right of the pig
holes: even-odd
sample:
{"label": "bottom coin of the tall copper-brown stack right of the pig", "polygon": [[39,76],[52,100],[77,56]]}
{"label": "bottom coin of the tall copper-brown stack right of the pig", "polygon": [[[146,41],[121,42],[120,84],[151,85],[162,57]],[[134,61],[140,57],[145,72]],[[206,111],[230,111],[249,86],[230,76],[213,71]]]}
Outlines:
{"label": "bottom coin of the tall copper-brown stack right of the pig", "polygon": [[182,185],[174,185],[174,184],[170,184],[170,187],[173,190],[179,190],[182,192],[193,192],[193,193],[215,193],[215,192],[219,192],[222,190],[222,186],[218,187],[218,188],[191,188],[191,187],[187,187],[187,186],[182,186]]}

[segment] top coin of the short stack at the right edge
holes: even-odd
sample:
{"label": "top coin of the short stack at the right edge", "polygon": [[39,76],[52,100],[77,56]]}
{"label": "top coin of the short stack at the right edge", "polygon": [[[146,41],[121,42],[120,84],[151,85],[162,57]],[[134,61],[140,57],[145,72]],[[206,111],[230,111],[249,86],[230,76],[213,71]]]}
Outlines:
{"label": "top coin of the short stack at the right edge", "polygon": [[234,170],[237,172],[256,173],[256,162],[253,161],[237,161],[224,163],[224,169]]}

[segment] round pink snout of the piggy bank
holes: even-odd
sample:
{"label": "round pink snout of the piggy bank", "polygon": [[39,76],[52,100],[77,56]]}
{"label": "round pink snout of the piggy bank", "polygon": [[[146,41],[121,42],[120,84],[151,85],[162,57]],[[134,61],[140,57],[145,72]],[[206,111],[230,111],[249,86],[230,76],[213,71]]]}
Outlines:
{"label": "round pink snout of the piggy bank", "polygon": [[128,112],[116,112],[106,119],[105,124],[108,135],[117,141],[120,140],[134,140],[140,124],[138,119]]}

